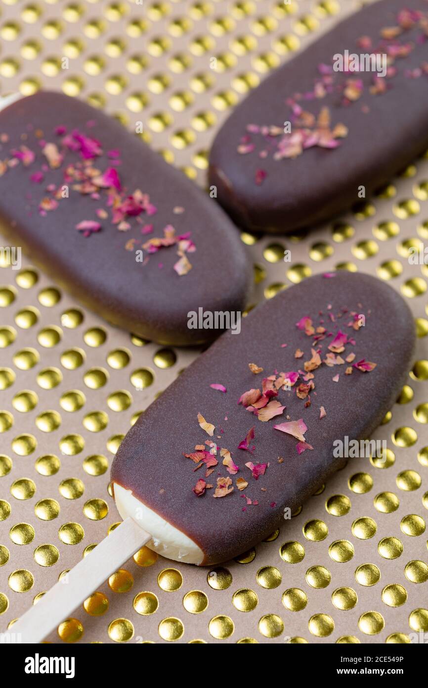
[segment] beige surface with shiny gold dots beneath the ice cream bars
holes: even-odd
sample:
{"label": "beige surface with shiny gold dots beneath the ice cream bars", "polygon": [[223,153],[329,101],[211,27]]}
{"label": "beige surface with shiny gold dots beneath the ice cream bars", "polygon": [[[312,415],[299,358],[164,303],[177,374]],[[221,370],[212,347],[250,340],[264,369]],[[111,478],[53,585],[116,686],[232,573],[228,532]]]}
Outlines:
{"label": "beige surface with shiny gold dots beneath the ice cream bars", "polygon": [[[62,90],[135,130],[205,186],[218,127],[250,89],[357,0],[0,0],[0,95]],[[409,643],[428,632],[428,155],[317,231],[241,238],[248,309],[311,274],[360,270],[401,292],[414,366],[357,459],[254,550],[212,569],[139,550],[54,643]],[[284,262],[284,250],[291,261]],[[0,268],[0,627],[120,522],[124,434],[197,354],[110,327],[31,257]]]}

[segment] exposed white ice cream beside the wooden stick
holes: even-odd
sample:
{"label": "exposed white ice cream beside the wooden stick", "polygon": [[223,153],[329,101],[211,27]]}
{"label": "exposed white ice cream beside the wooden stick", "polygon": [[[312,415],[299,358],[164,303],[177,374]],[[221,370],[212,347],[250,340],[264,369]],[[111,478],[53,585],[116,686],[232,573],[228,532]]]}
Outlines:
{"label": "exposed white ice cream beside the wooden stick", "polygon": [[202,563],[203,551],[190,537],[140,502],[131,490],[115,483],[114,491],[115,503],[122,519],[131,517],[152,536],[153,539],[147,544],[150,550],[174,561]]}

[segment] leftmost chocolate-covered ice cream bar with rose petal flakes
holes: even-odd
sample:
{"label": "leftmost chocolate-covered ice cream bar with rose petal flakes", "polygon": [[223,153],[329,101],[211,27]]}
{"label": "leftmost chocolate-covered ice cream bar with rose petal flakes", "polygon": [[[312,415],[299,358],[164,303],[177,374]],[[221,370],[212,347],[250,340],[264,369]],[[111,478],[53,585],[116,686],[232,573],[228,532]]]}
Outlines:
{"label": "leftmost chocolate-covered ice cream bar with rose petal flakes", "polygon": [[0,111],[1,231],[106,320],[160,343],[210,341],[188,313],[240,312],[249,266],[214,200],[122,125],[38,92]]}

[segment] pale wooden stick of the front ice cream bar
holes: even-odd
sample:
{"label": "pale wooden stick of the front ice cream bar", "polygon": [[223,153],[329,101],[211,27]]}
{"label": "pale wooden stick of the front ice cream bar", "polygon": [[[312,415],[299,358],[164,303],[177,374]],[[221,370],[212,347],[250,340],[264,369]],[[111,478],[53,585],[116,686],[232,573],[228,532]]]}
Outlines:
{"label": "pale wooden stick of the front ice cream bar", "polygon": [[21,643],[41,643],[109,576],[151,539],[127,518],[21,616],[13,632]]}

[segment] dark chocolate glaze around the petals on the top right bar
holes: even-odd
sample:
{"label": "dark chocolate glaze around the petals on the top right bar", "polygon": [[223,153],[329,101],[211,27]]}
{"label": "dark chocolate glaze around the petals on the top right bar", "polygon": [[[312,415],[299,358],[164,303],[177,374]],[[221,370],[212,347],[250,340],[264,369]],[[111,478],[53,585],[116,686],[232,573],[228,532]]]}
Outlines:
{"label": "dark chocolate glaze around the petals on the top right bar", "polygon": [[[251,136],[256,151],[237,152],[247,125],[282,128],[292,115],[286,99],[313,89],[315,79],[320,78],[319,64],[332,65],[333,55],[345,50],[370,52],[357,47],[357,39],[370,36],[374,46],[378,45],[379,30],[396,25],[397,12],[405,7],[428,12],[427,0],[371,3],[276,69],[232,111],[214,140],[209,178],[217,187],[218,201],[239,226],[288,233],[330,219],[361,200],[359,186],[365,186],[368,197],[427,149],[428,75],[410,78],[405,70],[428,61],[428,41],[416,42],[421,30],[409,30],[402,40],[414,42],[414,51],[407,58],[396,59],[398,74],[385,80],[390,87],[387,93],[370,94],[373,73],[361,72],[348,74],[364,83],[363,94],[350,105],[342,105],[338,94],[299,101],[313,114],[327,106],[332,124],[341,122],[348,127],[348,136],[339,139],[337,149],[306,149],[294,160],[274,160],[272,154],[260,159],[264,139]],[[338,78],[346,76],[339,74]],[[370,110],[363,112],[363,106]],[[267,172],[260,185],[255,182],[258,169]]]}

